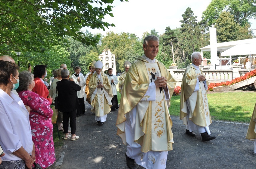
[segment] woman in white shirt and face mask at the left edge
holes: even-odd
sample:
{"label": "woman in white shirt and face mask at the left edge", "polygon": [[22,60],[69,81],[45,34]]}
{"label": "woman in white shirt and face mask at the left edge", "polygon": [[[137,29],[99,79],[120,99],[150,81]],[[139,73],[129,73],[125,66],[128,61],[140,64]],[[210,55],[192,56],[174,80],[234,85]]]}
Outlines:
{"label": "woman in white shirt and face mask at the left edge", "polygon": [[32,169],[35,160],[29,113],[12,90],[19,86],[18,65],[0,60],[0,145],[5,152],[0,168]]}

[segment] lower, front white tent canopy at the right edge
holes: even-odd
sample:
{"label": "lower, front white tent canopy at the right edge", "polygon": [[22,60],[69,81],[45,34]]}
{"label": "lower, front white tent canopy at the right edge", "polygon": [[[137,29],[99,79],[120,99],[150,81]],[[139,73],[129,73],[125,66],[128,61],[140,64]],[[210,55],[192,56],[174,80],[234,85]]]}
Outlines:
{"label": "lower, front white tent canopy at the right edge", "polygon": [[221,53],[221,56],[256,54],[256,43],[239,44]]}

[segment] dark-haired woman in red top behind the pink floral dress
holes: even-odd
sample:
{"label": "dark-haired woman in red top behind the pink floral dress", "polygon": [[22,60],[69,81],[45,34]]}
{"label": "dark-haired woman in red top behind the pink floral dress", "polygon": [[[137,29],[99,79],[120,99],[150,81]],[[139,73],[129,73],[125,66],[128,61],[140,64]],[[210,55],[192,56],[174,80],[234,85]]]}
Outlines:
{"label": "dark-haired woman in red top behind the pink floral dress", "polygon": [[52,104],[53,97],[49,96],[49,91],[43,80],[47,76],[46,65],[35,65],[34,76],[35,87],[32,89],[32,91],[47,99]]}

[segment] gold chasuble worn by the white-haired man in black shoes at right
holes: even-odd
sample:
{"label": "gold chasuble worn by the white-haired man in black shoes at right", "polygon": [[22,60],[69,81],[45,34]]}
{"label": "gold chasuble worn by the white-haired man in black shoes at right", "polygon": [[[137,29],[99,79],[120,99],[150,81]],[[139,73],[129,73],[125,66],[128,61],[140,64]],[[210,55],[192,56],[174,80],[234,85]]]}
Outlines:
{"label": "gold chasuble worn by the white-haired man in black shoes at right", "polygon": [[[183,124],[188,125],[187,114],[189,119],[196,125],[207,127],[211,121],[207,91],[203,81],[198,81],[197,77],[202,75],[202,71],[197,70],[192,64],[188,65],[184,72],[181,85],[181,98],[180,98],[180,119]],[[199,82],[198,91],[195,90]]]}

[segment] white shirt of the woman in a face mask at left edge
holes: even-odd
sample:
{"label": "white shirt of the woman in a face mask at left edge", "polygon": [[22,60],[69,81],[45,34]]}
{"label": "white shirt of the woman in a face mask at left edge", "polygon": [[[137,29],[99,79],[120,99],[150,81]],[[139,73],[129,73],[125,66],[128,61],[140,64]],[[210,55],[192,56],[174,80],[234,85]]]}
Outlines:
{"label": "white shirt of the woman in a face mask at left edge", "polygon": [[5,152],[3,161],[22,160],[12,153],[21,146],[32,154],[33,141],[29,113],[22,100],[11,92],[11,97],[0,89],[0,144]]}

